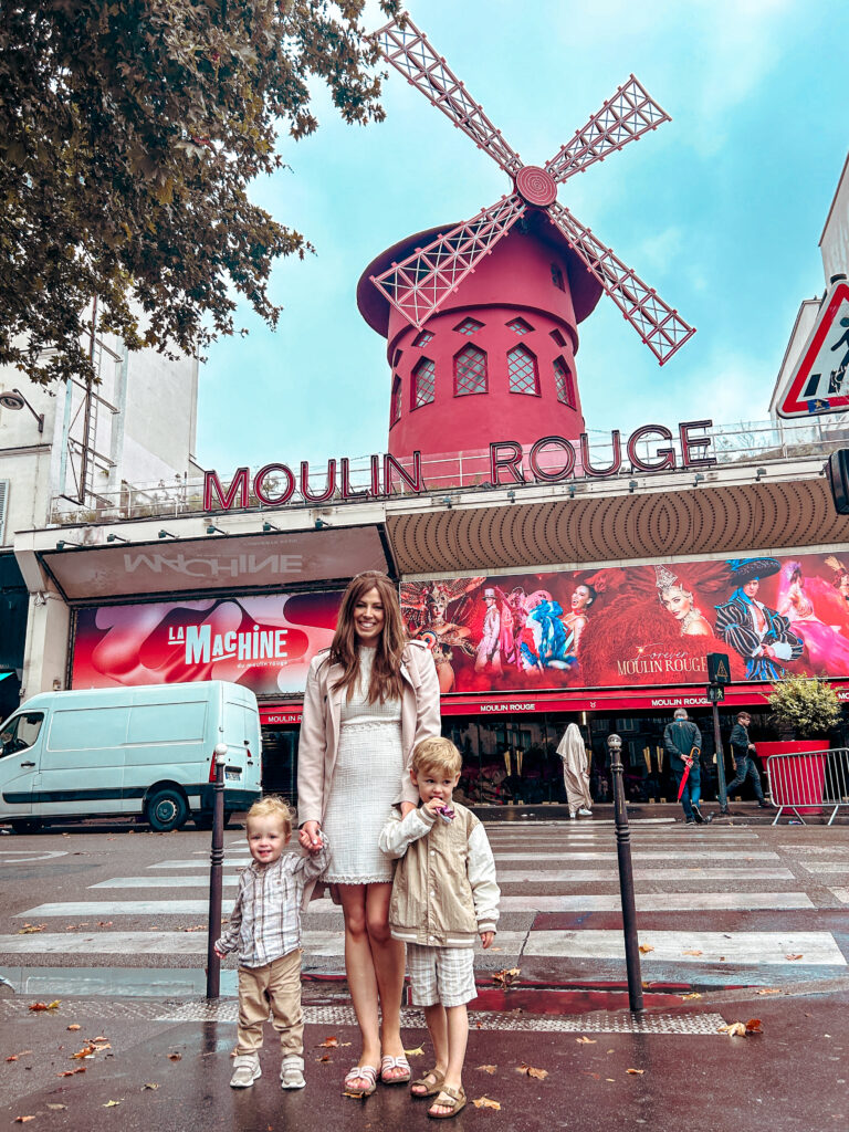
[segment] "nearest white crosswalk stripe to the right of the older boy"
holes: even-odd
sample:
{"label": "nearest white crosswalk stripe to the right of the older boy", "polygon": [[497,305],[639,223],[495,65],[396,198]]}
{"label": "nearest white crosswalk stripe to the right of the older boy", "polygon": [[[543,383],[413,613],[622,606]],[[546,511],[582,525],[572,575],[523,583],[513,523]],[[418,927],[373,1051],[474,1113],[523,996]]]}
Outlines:
{"label": "nearest white crosswalk stripe to the right of the older boy", "polygon": [[[805,966],[846,967],[847,960],[831,932],[641,932],[640,944],[651,947],[640,962],[786,963],[800,955]],[[698,952],[687,954],[687,952]],[[531,932],[523,955],[569,959],[624,959],[621,932]]]}

